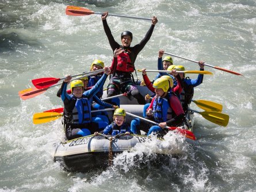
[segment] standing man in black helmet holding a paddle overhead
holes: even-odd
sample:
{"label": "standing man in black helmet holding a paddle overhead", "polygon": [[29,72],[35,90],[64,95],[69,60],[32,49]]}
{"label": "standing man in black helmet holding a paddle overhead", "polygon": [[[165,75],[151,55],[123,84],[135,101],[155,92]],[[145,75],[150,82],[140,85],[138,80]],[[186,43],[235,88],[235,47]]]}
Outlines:
{"label": "standing man in black helmet holding a paddle overhead", "polygon": [[112,64],[113,75],[110,79],[108,85],[108,97],[119,94],[121,90],[123,93],[127,92],[137,99],[140,105],[144,105],[146,102],[144,97],[139,93],[139,90],[135,86],[135,82],[132,72],[135,70],[135,60],[140,51],[144,48],[147,41],[153,33],[155,24],[158,22],[156,17],[152,18],[152,25],[148,30],[146,36],[139,44],[131,47],[132,33],[129,31],[124,31],[121,33],[121,45],[114,40],[114,37],[110,31],[108,23],[106,22],[106,17],[108,17],[108,12],[102,13],[101,19],[103,22],[104,30],[106,36],[108,37],[109,44],[114,52],[117,49],[122,50],[119,55],[117,55],[117,60]]}

